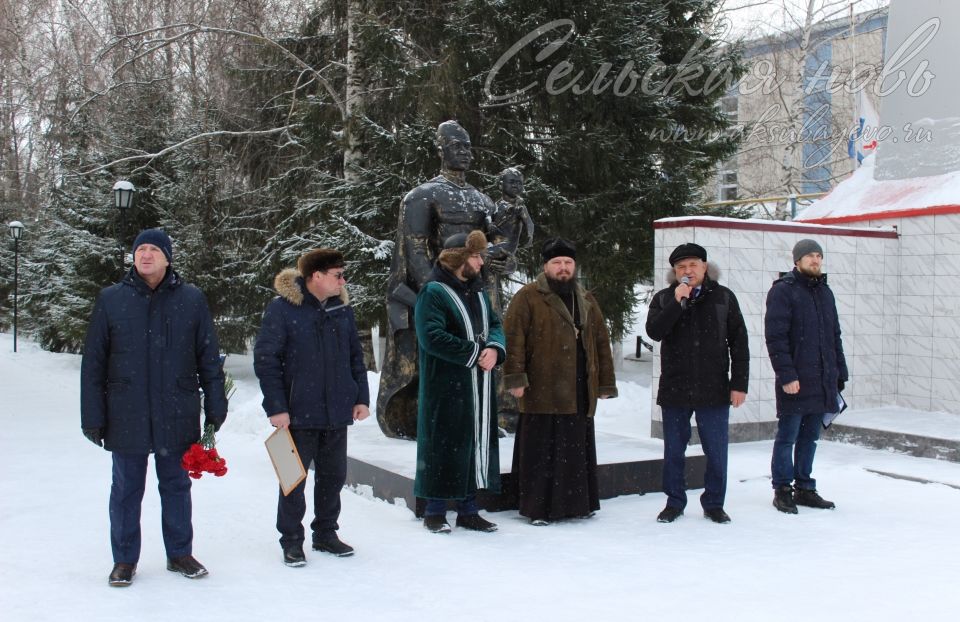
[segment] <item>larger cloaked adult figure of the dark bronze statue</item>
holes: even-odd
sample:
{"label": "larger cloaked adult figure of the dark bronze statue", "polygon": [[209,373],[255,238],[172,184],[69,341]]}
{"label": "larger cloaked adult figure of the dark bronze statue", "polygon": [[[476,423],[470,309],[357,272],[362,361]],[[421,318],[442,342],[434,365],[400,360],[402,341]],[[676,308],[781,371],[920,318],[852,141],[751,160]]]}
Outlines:
{"label": "larger cloaked adult figure of the dark bronze statue", "polygon": [[[466,181],[466,171],[473,162],[467,131],[456,121],[445,121],[437,127],[436,140],[443,163],[440,175],[403,198],[387,281],[389,328],[377,395],[377,422],[391,438],[417,436],[419,373],[413,322],[417,292],[443,250],[443,241],[474,229],[488,232],[488,219],[495,211],[493,200]],[[505,250],[490,248],[492,269],[501,269],[507,255]]]}

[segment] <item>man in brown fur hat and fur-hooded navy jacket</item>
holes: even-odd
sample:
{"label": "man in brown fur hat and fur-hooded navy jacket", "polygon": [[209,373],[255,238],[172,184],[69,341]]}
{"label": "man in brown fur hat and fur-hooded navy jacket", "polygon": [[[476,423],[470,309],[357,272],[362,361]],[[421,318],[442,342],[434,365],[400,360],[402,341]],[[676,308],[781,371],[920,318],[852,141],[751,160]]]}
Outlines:
{"label": "man in brown fur hat and fur-hooded navy jacket", "polygon": [[[353,548],[337,537],[340,490],[347,477],[347,426],[370,416],[367,369],[344,283],[343,255],[320,248],[297,268],[277,275],[280,294],[263,314],[254,346],[263,408],[276,428],[289,428],[304,465],[314,463],[313,549],[338,557]],[[303,554],[305,482],[280,491],[277,531],[283,562],[307,563]]]}

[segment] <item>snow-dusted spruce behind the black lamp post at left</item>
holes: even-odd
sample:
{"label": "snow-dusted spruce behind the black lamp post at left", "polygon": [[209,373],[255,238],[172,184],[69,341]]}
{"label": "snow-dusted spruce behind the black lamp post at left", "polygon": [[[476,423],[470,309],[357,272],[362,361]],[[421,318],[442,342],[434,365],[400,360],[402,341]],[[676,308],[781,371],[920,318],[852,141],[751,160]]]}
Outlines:
{"label": "snow-dusted spruce behind the black lamp post at left", "polygon": [[[77,94],[75,101],[82,100]],[[101,167],[121,157],[122,145],[149,151],[166,144],[172,111],[172,94],[155,85],[114,93],[64,124],[61,182],[43,210],[25,266],[27,326],[45,349],[81,350],[97,293],[129,269],[137,231],[157,225],[149,180],[163,174],[160,169]],[[118,179],[140,189],[134,209],[123,215],[112,192]]]}

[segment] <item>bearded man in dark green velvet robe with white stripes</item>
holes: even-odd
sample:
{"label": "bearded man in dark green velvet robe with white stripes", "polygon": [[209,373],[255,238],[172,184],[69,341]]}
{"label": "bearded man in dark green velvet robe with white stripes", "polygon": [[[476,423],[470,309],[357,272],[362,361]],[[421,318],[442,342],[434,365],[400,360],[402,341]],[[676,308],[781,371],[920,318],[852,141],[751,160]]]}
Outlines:
{"label": "bearded man in dark green velvet robe with white stripes", "polygon": [[447,239],[417,296],[420,381],[414,494],[427,500],[423,525],[449,533],[447,502],[457,527],[495,531],[480,516],[478,489],[500,490],[496,382],[506,358],[503,327],[484,291],[480,269],[487,238],[480,230]]}

